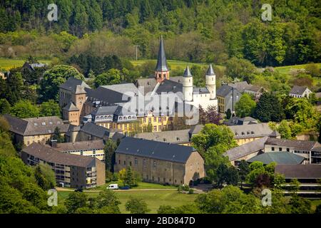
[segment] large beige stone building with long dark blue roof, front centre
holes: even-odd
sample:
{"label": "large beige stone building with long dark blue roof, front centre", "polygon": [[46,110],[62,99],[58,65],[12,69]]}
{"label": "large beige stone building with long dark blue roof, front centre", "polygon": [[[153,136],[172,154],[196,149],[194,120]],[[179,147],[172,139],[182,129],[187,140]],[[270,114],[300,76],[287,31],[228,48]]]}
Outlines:
{"label": "large beige stone building with long dark blue roof, front centre", "polygon": [[114,170],[119,172],[128,166],[145,182],[189,185],[205,177],[203,157],[193,147],[153,140],[129,137],[121,140]]}

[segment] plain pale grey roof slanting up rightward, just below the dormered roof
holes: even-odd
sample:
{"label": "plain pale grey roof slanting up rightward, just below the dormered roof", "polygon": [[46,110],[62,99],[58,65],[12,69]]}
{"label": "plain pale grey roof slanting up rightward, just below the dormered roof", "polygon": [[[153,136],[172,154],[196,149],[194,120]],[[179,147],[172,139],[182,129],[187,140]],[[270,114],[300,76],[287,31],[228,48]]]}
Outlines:
{"label": "plain pale grey roof slanting up rightward, just below the dormered roof", "polygon": [[225,156],[228,156],[230,161],[237,160],[240,157],[253,154],[264,149],[264,144],[267,140],[267,137],[254,140],[252,142],[245,143],[238,147],[234,147],[224,153]]}

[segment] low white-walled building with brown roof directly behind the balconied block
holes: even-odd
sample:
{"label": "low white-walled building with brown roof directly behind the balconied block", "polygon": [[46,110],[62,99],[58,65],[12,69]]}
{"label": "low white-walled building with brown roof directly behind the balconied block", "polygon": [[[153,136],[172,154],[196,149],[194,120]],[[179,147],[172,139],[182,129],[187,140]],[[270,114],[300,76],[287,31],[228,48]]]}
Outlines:
{"label": "low white-walled building with brown roof directly behind the balconied block", "polygon": [[60,152],[71,155],[83,155],[88,157],[96,157],[98,160],[105,160],[105,147],[103,140],[81,141],[81,142],[51,142],[51,147]]}

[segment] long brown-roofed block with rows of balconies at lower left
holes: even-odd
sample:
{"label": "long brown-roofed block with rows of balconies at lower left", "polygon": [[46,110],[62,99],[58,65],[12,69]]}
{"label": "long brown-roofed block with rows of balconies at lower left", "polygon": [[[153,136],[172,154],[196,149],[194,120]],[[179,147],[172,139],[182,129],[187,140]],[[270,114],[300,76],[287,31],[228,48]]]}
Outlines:
{"label": "long brown-roofed block with rows of balconies at lower left", "polygon": [[57,185],[63,187],[90,188],[106,182],[105,163],[95,157],[71,155],[34,142],[21,151],[21,159],[27,165],[49,165]]}

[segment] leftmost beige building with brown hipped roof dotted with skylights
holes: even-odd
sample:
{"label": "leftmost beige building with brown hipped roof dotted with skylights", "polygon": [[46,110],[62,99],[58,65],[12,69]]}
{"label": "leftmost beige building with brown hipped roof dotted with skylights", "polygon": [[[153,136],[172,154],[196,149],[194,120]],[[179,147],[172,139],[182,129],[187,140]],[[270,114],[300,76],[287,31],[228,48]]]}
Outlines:
{"label": "leftmost beige building with brown hipped roof dotted with skylights", "polygon": [[19,119],[11,115],[4,115],[4,118],[9,122],[15,142],[24,145],[31,145],[33,142],[45,144],[54,135],[56,128],[60,130],[62,136],[69,128],[69,124],[63,123],[63,120],[56,116]]}

